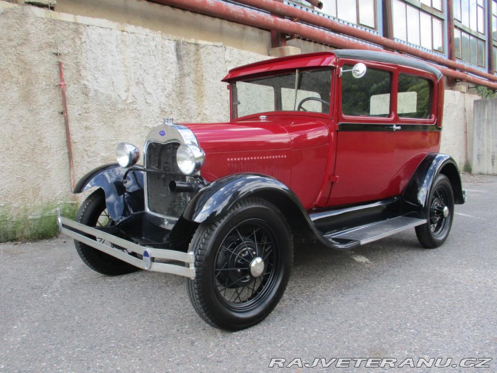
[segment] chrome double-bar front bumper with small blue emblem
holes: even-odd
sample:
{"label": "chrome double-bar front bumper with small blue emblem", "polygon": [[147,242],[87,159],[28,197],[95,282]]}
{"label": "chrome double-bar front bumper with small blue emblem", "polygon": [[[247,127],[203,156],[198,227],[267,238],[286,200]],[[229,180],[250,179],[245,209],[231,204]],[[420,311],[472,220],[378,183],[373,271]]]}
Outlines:
{"label": "chrome double-bar front bumper with small blue emblem", "polygon": [[[99,229],[88,227],[87,225],[75,222],[68,218],[63,218],[59,210],[57,210],[57,223],[59,224],[59,231],[64,233],[66,236],[70,236],[79,242],[103,251],[110,256],[122,260],[123,262],[127,262],[130,265],[134,265],[140,269],[195,278],[195,256],[193,253],[183,253],[175,250],[153,249],[151,247],[140,246],[133,242],[116,237],[110,233],[99,231]],[[88,238],[79,232],[105,240],[110,245],[119,247],[120,249],[110,245],[105,245],[104,243],[96,240],[92,240],[92,238]],[[135,253],[142,256],[142,259],[131,256],[123,249],[126,249],[128,253]],[[155,259],[171,260],[173,262],[178,262],[178,264],[155,262]]]}

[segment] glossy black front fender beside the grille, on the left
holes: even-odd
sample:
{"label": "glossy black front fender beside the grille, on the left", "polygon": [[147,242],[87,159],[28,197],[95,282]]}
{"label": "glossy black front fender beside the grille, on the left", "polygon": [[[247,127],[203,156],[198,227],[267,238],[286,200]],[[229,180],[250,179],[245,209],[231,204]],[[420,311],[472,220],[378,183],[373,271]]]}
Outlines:
{"label": "glossy black front fender beside the grille, on the left", "polygon": [[144,171],[141,170],[139,166],[130,170],[119,164],[106,164],[84,175],[73,192],[82,193],[93,187],[102,189],[110,217],[119,222],[131,213],[145,209]]}

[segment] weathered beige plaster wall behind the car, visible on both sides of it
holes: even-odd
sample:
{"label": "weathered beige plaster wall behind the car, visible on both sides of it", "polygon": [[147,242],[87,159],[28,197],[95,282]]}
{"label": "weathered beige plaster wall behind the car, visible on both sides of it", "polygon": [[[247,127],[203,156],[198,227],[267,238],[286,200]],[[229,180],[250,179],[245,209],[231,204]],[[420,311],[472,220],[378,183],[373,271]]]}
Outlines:
{"label": "weathered beige plaster wall behind the car, visible on both sides of it", "polygon": [[[55,52],[64,63],[76,180],[114,162],[118,142],[142,146],[164,117],[227,120],[220,79],[268,58],[269,32],[148,1],[57,0],[61,9],[74,14],[0,1],[0,209],[12,213],[73,198]],[[144,24],[145,16],[152,29],[119,23]],[[473,100],[451,91],[445,100],[442,151],[461,166]]]}

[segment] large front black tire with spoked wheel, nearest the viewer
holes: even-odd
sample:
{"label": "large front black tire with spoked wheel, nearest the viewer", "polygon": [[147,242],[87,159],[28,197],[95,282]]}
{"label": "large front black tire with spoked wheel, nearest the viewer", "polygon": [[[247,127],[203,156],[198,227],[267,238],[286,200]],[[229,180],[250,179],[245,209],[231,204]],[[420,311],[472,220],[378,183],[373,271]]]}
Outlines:
{"label": "large front black tire with spoked wheel, nearest the viewer", "polygon": [[266,200],[237,202],[221,220],[201,224],[189,250],[196,276],[187,280],[188,296],[214,327],[240,330],[260,323],[283,296],[293,241],[284,216]]}

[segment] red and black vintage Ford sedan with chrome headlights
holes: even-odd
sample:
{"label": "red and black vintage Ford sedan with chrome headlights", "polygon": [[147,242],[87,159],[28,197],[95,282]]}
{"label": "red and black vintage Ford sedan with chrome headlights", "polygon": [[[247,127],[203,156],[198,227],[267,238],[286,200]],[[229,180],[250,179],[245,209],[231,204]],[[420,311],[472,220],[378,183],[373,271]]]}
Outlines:
{"label": "red and black vintage Ford sedan with chrome headlights", "polygon": [[442,245],[458,168],[438,153],[443,79],[416,59],[336,50],[231,70],[227,123],[148,134],[75,188],[96,190],[76,221],[59,217],[101,274],[187,278],[195,311],[223,329],[262,321],[289,280],[293,242],[347,250],[415,228]]}

